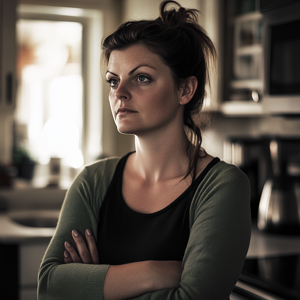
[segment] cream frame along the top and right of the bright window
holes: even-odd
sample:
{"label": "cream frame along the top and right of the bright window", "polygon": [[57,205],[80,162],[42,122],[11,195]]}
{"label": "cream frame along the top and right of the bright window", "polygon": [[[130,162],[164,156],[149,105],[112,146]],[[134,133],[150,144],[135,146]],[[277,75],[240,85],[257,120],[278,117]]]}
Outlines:
{"label": "cream frame along the top and right of the bright window", "polygon": [[101,155],[103,80],[100,73],[103,12],[97,9],[19,4],[18,19],[69,21],[82,24],[82,155],[89,164]]}

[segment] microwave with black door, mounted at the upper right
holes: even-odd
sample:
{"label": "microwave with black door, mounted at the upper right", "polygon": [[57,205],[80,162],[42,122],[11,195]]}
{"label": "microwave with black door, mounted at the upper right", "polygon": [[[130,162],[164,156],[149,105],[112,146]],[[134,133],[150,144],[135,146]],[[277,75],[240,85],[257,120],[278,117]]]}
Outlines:
{"label": "microwave with black door, mounted at the upper right", "polygon": [[269,114],[300,114],[300,1],[260,0],[263,97]]}

